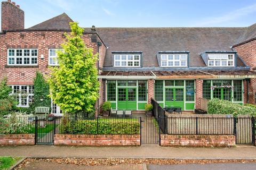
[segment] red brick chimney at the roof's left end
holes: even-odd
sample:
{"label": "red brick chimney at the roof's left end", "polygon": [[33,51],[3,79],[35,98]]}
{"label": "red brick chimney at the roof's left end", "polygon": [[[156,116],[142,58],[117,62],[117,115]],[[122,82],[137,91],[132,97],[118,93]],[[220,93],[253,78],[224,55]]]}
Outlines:
{"label": "red brick chimney at the roof's left end", "polygon": [[24,29],[24,11],[11,0],[2,2],[1,30]]}

